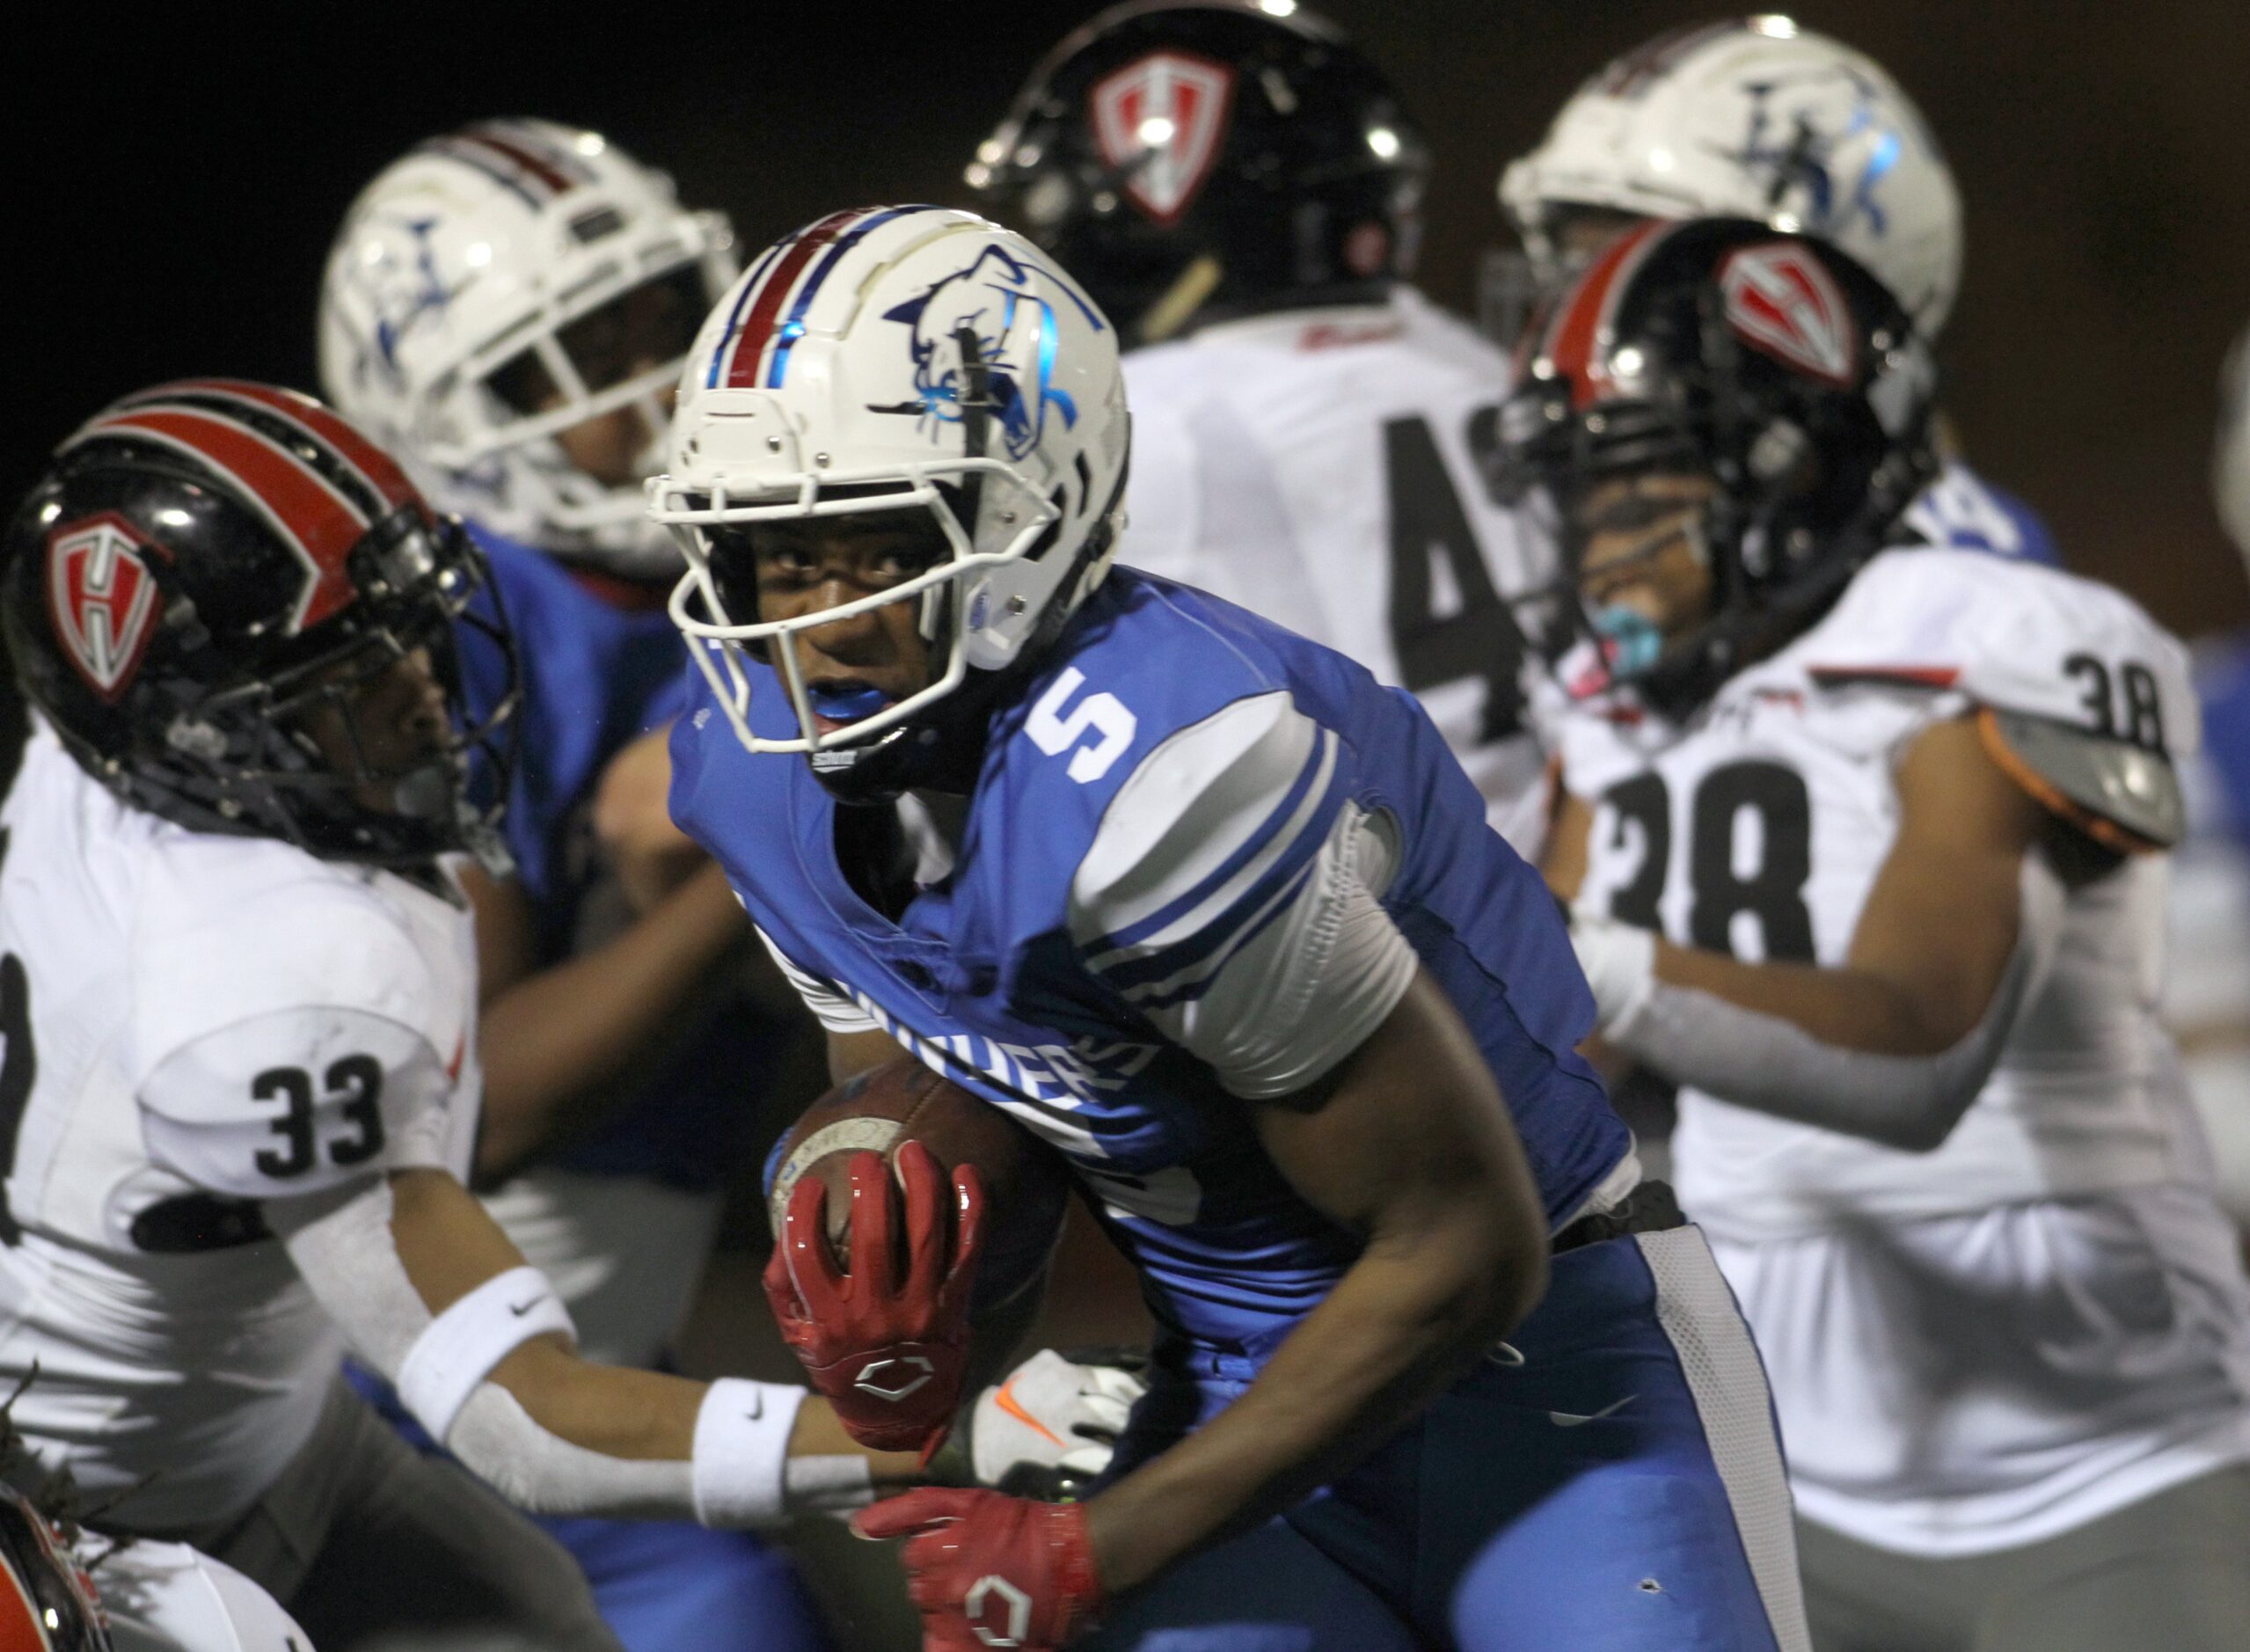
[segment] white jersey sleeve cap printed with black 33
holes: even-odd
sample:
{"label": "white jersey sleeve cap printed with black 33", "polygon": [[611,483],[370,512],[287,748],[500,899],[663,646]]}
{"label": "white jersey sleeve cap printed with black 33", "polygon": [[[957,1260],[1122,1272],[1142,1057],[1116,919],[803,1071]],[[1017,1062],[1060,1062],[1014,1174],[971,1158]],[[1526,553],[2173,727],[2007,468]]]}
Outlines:
{"label": "white jersey sleeve cap printed with black 33", "polygon": [[212,1193],[292,1197],[434,1164],[425,1114],[452,1089],[430,1040],[360,1008],[268,1011],[162,1056],[142,1078],[142,1141]]}

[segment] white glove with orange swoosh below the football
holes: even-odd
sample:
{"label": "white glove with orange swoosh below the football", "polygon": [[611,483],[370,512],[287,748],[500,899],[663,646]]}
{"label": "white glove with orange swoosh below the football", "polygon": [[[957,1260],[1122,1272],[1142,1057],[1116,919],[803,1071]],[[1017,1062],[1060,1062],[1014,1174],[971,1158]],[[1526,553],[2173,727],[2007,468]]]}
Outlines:
{"label": "white glove with orange swoosh below the football", "polygon": [[970,1463],[981,1485],[1030,1497],[1069,1497],[1105,1467],[1148,1384],[1130,1368],[1138,1350],[1078,1364],[1042,1348],[976,1395]]}

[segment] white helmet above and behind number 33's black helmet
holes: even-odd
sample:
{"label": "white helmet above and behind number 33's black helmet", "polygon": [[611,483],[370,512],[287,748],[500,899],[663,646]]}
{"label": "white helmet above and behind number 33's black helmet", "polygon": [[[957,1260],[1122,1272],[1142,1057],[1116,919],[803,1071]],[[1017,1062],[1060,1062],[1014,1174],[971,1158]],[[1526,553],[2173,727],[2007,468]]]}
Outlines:
{"label": "white helmet above and behind number 33's black helmet", "polygon": [[[644,518],[666,392],[736,275],[734,234],[598,133],[482,122],[387,167],[353,203],[320,295],[328,398],[446,511],[628,576],[680,556]],[[670,335],[677,335],[670,342]],[[646,360],[652,340],[662,360]],[[556,441],[637,407],[648,441],[610,486]]]}

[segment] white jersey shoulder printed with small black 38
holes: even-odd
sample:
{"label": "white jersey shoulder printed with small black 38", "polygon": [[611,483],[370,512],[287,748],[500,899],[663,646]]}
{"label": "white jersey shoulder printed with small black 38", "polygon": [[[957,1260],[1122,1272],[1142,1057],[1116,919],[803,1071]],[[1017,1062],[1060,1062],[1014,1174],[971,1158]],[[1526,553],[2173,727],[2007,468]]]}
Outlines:
{"label": "white jersey shoulder printed with small black 38", "polygon": [[1789,655],[1820,689],[1953,691],[2164,754],[2200,738],[2187,650],[2133,599],[1980,551],[1886,551]]}

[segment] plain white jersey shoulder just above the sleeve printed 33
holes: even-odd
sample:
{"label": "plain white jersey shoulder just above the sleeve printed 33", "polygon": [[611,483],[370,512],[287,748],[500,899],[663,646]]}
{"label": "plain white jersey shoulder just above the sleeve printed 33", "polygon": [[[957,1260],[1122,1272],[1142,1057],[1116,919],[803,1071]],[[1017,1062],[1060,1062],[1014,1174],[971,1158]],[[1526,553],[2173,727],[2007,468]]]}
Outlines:
{"label": "plain white jersey shoulder just above the sleeve printed 33", "polygon": [[[400,900],[436,896],[268,840],[178,833],[153,858],[133,925],[135,1076],[236,1022],[360,1011],[410,1029],[461,1020]],[[466,927],[466,912],[448,914]],[[448,1051],[450,1056],[450,1051]]]}

